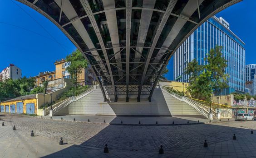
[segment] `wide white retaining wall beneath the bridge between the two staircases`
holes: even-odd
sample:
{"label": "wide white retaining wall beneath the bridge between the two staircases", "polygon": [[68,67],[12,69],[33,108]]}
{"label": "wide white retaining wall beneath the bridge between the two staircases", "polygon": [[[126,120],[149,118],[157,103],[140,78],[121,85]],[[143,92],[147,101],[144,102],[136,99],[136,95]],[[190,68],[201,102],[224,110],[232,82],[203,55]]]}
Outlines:
{"label": "wide white retaining wall beneath the bridge between the two staircases", "polygon": [[72,102],[54,115],[201,115],[186,102],[182,102],[170,94],[155,89],[152,102],[104,102],[100,89],[94,87],[94,91]]}

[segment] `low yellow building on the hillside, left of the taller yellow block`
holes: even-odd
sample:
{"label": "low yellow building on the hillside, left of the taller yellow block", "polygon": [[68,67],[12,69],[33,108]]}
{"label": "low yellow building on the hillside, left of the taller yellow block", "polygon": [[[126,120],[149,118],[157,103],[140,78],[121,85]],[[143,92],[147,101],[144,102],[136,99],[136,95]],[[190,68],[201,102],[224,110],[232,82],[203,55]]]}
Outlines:
{"label": "low yellow building on the hillside, left of the taller yellow block", "polygon": [[55,71],[46,71],[46,72],[40,72],[39,75],[34,76],[35,79],[35,86],[42,86],[44,81],[52,81],[56,78]]}

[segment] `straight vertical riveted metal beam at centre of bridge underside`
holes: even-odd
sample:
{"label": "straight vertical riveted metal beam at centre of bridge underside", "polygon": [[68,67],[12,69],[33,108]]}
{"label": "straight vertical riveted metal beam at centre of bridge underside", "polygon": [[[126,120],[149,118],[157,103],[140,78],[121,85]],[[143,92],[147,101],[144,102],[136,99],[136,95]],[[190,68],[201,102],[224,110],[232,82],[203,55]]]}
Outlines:
{"label": "straight vertical riveted metal beam at centre of bridge underside", "polygon": [[132,0],[126,0],[126,102],[129,102],[129,62],[130,62],[130,41],[132,21]]}

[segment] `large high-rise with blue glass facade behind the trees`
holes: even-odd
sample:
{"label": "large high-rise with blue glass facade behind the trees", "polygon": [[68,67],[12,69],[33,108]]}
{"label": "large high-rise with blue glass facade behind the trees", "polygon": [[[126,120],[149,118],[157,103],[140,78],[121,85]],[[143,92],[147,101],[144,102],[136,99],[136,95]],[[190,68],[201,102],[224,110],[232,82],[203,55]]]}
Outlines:
{"label": "large high-rise with blue glass facade behind the trees", "polygon": [[206,65],[204,58],[211,48],[223,46],[222,56],[227,60],[228,86],[222,94],[245,91],[245,43],[229,29],[223,18],[213,16],[197,28],[173,55],[173,77],[180,82],[189,82],[185,73],[187,64],[197,59]]}

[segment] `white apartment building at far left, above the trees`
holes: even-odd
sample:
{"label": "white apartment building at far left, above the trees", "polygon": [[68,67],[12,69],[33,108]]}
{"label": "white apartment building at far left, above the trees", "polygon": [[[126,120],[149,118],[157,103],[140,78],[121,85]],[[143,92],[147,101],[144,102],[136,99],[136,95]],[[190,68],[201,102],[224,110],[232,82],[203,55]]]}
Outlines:
{"label": "white apartment building at far left, above the trees", "polygon": [[17,66],[10,64],[2,72],[0,72],[0,81],[6,79],[20,79],[21,78],[21,69]]}

